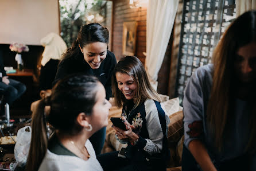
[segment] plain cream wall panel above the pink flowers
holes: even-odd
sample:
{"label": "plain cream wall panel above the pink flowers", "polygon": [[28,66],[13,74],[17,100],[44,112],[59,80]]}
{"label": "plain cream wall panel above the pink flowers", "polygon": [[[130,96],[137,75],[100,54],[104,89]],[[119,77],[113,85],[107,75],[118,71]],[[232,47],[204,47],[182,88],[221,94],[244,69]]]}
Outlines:
{"label": "plain cream wall panel above the pink flowers", "polygon": [[0,0],[0,44],[41,45],[59,26],[58,0]]}

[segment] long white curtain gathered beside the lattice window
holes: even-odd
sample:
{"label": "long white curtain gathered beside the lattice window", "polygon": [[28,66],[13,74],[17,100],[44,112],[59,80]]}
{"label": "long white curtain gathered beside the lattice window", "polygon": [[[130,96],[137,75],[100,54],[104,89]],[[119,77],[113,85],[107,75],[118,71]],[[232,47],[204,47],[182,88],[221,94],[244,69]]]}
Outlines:
{"label": "long white curtain gathered beside the lattice window", "polygon": [[155,89],[178,5],[179,0],[149,0],[148,3],[145,68]]}

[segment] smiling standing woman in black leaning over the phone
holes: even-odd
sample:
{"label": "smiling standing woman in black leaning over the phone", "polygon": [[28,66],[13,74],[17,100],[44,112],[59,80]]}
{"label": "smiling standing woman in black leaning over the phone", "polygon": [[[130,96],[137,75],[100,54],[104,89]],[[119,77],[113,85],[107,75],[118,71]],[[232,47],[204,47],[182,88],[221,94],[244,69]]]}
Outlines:
{"label": "smiling standing woman in black leaning over the phone", "polygon": [[[117,60],[108,49],[108,30],[98,23],[83,25],[76,41],[64,54],[57,69],[55,81],[72,73],[98,77],[106,90],[106,99],[112,96],[111,74]],[[106,127],[90,138],[96,154],[100,154],[106,137]]]}

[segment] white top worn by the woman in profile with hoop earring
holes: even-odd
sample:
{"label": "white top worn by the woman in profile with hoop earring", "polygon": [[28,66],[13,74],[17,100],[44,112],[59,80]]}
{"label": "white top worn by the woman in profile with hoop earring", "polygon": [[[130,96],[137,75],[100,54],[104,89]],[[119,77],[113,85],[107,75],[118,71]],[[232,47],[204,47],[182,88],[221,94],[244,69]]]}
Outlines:
{"label": "white top worn by the woman in profile with hoop earring", "polygon": [[38,170],[100,170],[102,166],[96,159],[94,147],[92,147],[89,139],[86,141],[86,148],[90,154],[90,158],[85,161],[82,158],[75,156],[63,156],[52,153],[47,150],[44,160],[42,160],[41,166]]}

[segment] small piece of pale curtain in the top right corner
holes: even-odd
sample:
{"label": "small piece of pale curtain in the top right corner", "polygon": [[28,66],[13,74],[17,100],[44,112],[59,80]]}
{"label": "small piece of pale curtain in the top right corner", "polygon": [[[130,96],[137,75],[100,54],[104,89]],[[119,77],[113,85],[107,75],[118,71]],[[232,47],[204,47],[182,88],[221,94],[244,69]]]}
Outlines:
{"label": "small piece of pale curtain in the top right corner", "polygon": [[235,0],[236,17],[249,10],[256,9],[255,0]]}

